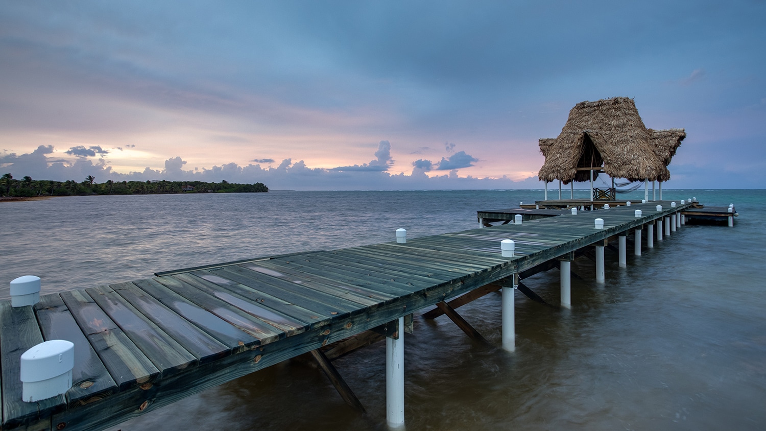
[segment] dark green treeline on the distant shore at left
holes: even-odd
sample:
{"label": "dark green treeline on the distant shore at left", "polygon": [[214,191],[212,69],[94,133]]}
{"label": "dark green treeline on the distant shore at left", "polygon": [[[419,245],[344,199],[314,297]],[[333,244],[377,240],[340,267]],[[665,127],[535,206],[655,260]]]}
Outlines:
{"label": "dark green treeline on the distant shore at left", "polygon": [[106,181],[98,184],[88,175],[85,181],[19,179],[11,174],[0,178],[0,195],[32,198],[34,196],[74,196],[84,194],[169,194],[169,193],[261,193],[269,191],[264,183],[234,184],[228,181]]}

